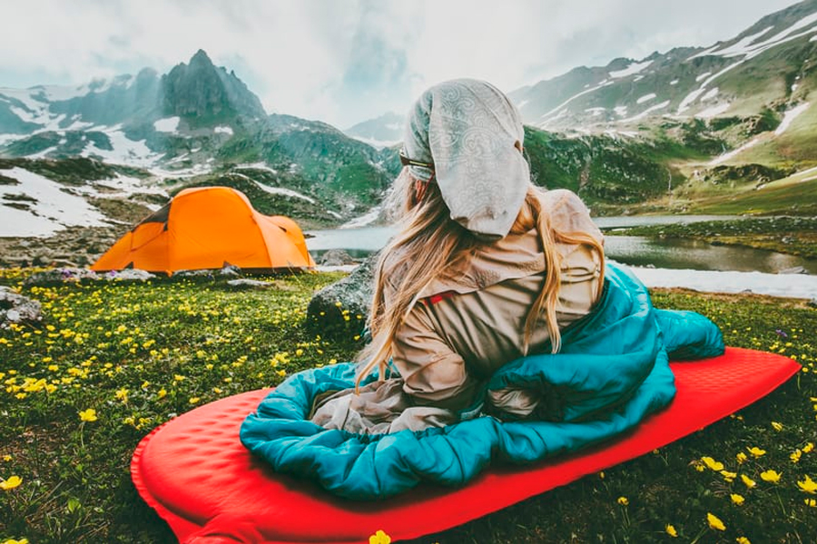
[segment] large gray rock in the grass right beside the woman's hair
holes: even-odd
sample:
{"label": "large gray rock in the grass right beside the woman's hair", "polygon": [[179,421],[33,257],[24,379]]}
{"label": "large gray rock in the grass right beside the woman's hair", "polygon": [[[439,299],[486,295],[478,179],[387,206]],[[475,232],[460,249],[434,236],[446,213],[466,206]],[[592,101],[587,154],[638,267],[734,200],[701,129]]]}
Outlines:
{"label": "large gray rock in the grass right beside the woman's hair", "polygon": [[359,334],[374,296],[377,260],[377,254],[367,258],[349,276],[315,293],[307,308],[308,322],[320,326],[324,334],[336,331]]}

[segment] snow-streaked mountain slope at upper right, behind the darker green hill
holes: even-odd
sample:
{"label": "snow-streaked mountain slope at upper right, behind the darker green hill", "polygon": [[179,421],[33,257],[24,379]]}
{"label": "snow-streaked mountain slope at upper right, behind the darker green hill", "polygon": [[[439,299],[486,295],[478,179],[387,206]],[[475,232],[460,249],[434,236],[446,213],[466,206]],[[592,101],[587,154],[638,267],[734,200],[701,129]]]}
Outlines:
{"label": "snow-streaked mountain slope at upper right, behind the darker green hill", "polygon": [[763,17],[708,48],[579,67],[511,92],[527,123],[546,130],[625,129],[645,121],[749,116],[804,102],[817,88],[817,1]]}

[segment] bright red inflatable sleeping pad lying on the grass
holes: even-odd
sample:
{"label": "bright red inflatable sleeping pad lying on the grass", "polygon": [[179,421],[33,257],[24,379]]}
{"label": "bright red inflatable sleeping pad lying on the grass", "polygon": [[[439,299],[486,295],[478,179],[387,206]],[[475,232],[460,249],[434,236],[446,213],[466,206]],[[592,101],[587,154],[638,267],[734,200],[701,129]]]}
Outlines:
{"label": "bright red inflatable sleeping pad lying on the grass", "polygon": [[377,529],[414,539],[652,452],[771,393],[800,369],[787,357],[739,348],[671,366],[673,403],[635,432],[527,467],[496,467],[458,489],[419,486],[361,503],[274,473],[239,442],[241,422],[270,390],[206,404],[155,429],[133,453],[131,474],[181,542],[359,544]]}

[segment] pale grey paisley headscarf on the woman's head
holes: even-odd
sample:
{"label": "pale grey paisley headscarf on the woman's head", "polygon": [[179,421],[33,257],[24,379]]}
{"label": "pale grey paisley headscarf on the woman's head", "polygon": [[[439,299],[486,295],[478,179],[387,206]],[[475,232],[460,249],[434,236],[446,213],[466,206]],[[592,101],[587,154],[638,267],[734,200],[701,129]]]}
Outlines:
{"label": "pale grey paisley headscarf on the woman's head", "polygon": [[[412,160],[434,164],[451,219],[481,238],[504,238],[525,200],[530,170],[515,147],[525,132],[517,109],[490,83],[434,85],[408,113],[403,139]],[[428,180],[432,171],[408,166]]]}

